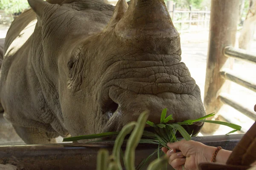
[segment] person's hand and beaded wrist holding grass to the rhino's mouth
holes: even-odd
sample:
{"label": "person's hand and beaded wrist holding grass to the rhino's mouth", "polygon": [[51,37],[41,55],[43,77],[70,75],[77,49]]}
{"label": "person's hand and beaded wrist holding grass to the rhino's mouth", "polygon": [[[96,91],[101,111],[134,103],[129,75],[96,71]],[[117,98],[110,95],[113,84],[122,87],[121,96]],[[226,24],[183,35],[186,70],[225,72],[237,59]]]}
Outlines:
{"label": "person's hand and beaded wrist holding grass to the rhino's mouth", "polygon": [[[169,164],[175,170],[198,170],[199,164],[211,162],[212,153],[216,149],[216,147],[210,147],[192,140],[168,143],[167,146],[171,149],[168,150],[168,148],[162,147],[162,150],[169,157]],[[230,151],[220,150],[215,162],[225,164],[230,154]]]}

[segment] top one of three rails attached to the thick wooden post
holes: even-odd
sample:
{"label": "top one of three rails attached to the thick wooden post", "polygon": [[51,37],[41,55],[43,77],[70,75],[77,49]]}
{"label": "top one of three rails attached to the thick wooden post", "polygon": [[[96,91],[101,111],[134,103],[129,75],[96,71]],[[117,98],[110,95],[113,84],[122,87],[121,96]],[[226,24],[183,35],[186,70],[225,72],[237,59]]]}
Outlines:
{"label": "top one of three rails attached to the thick wooden post", "polygon": [[246,50],[243,49],[227,46],[224,48],[224,55],[226,57],[233,57],[235,59],[243,60],[246,62],[252,62],[253,64],[256,64],[256,56],[248,53]]}

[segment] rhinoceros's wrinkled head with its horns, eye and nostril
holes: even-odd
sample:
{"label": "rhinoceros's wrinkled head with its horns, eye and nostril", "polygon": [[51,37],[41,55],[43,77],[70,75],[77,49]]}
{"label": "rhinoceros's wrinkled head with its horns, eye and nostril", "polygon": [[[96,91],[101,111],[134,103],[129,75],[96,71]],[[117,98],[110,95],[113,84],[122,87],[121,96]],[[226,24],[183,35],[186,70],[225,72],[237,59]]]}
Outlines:
{"label": "rhinoceros's wrinkled head with its horns, eye and nostril", "polygon": [[[38,74],[52,82],[45,84],[58,94],[55,104],[72,136],[120,130],[144,110],[155,123],[163,108],[170,122],[205,115],[163,0],[119,0],[115,8],[97,0],[29,4],[44,53]],[[196,134],[201,126],[189,129]]]}

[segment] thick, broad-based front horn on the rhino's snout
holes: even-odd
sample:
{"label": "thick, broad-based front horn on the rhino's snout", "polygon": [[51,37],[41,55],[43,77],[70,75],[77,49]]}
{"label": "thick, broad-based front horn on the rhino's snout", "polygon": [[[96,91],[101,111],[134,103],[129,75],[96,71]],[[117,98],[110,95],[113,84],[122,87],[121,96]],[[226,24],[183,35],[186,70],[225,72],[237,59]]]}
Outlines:
{"label": "thick, broad-based front horn on the rhino's snout", "polygon": [[163,0],[131,0],[115,32],[123,38],[179,36]]}

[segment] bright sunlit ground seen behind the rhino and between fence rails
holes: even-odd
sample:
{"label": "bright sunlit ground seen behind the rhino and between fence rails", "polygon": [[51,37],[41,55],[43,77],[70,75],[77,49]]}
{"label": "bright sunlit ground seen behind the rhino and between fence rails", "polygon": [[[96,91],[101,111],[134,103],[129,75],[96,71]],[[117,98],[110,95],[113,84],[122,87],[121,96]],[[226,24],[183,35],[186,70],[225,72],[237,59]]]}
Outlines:
{"label": "bright sunlit ground seen behind the rhino and between fence rails", "polygon": [[[0,38],[6,36],[6,32],[9,26],[0,25]],[[195,79],[201,89],[201,96],[204,96],[204,83],[205,83],[205,71],[206,60],[208,50],[208,31],[201,31],[200,33],[183,33],[180,35],[181,49],[182,49],[182,61],[186,63],[192,77]],[[239,33],[237,34],[239,37]],[[256,52],[256,41],[253,42],[252,53]],[[235,61],[234,71],[241,74],[244,77],[256,80],[256,67],[253,64]],[[231,83],[230,94],[240,103],[253,109],[256,104],[256,93]],[[224,106],[219,112],[221,115],[232,117],[237,124],[241,125],[243,129],[248,130],[253,124],[253,120],[247,118],[243,114],[239,113],[235,109]],[[231,131],[229,127],[221,126],[213,135],[223,135]],[[199,136],[202,136],[200,133]],[[58,138],[58,142],[61,142],[61,138]],[[17,136],[12,126],[3,119],[0,115],[0,145],[6,144],[23,144],[23,141]]]}

